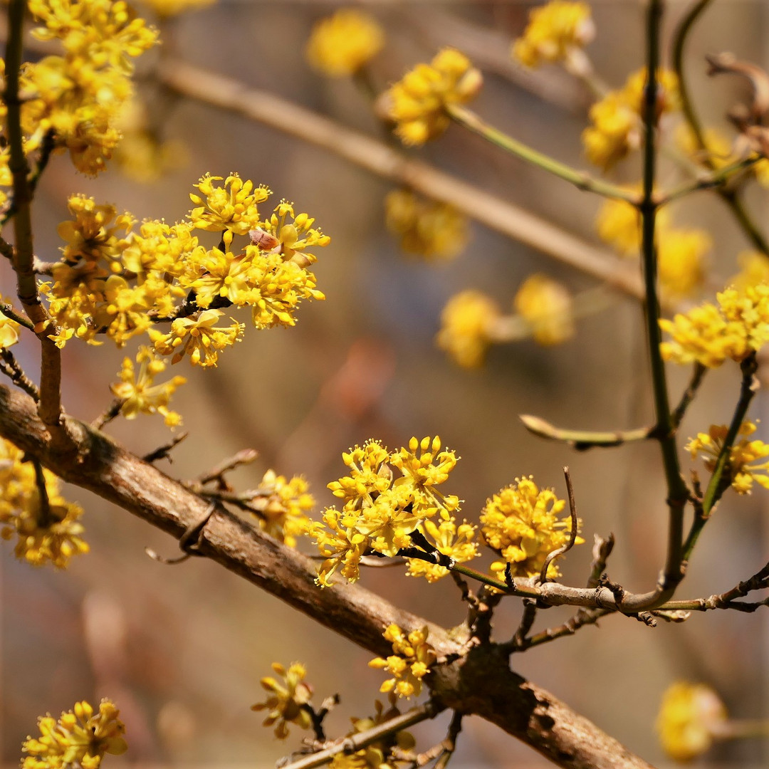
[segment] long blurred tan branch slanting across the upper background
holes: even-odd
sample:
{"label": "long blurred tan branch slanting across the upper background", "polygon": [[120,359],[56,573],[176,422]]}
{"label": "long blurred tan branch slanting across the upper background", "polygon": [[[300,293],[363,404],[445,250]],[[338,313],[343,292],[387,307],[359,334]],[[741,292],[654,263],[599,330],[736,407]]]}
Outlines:
{"label": "long blurred tan branch slanting across the upper background", "polygon": [[351,131],[323,115],[242,82],[179,61],[164,62],[161,82],[175,92],[271,126],[325,148],[361,168],[407,185],[434,200],[458,205],[481,224],[535,248],[613,288],[641,297],[641,281],[618,258],[593,248],[550,222],[489,195],[421,161],[406,158],[381,141]]}

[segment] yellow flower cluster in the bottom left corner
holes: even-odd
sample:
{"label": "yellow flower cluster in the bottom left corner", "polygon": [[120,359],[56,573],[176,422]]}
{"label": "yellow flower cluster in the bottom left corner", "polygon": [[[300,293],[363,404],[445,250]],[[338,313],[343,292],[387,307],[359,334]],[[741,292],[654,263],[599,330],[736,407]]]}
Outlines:
{"label": "yellow flower cluster in the bottom left corner", "polygon": [[27,737],[22,751],[29,755],[22,769],[98,769],[105,753],[118,756],[128,750],[119,714],[111,701],[102,700],[97,713],[83,701],[58,721],[49,715],[39,718],[40,737]]}

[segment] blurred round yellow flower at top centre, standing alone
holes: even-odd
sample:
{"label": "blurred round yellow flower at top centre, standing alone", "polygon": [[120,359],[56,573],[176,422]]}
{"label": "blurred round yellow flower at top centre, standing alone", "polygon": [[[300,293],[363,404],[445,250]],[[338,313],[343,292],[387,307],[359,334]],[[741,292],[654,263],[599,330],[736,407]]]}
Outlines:
{"label": "blurred round yellow flower at top centre, standing alone", "polygon": [[341,8],[313,27],[306,55],[319,72],[342,78],[368,64],[383,45],[384,32],[371,16]]}

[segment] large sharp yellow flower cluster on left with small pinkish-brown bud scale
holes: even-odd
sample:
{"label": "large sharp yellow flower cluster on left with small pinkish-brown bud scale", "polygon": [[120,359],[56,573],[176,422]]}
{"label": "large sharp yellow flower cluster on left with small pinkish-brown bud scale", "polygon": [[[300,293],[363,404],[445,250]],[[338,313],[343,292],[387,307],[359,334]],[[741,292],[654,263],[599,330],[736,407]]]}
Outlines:
{"label": "large sharp yellow flower cluster on left with small pinkish-brown bud scale", "polygon": [[[42,285],[58,346],[73,336],[95,343],[105,335],[122,347],[147,332],[155,352],[171,355],[171,362],[188,355],[194,364],[213,366],[218,351],[245,328],[235,320],[221,324],[219,308],[251,308],[255,327],[270,328],[295,325],[302,300],[324,298],[308,266],[316,261],[310,249],[330,238],[313,227],[315,220],[295,214],[286,201],[262,220],[258,205],[268,199],[267,188],[237,174],[219,181],[201,178],[184,221],[144,221],[138,231],[134,218],[112,205],[70,198],[73,220],[58,228],[67,242],[63,259],[52,283]],[[221,243],[205,248],[195,230],[221,233]],[[236,235],[248,235],[250,243],[233,248]],[[157,328],[171,318],[168,330]]]}

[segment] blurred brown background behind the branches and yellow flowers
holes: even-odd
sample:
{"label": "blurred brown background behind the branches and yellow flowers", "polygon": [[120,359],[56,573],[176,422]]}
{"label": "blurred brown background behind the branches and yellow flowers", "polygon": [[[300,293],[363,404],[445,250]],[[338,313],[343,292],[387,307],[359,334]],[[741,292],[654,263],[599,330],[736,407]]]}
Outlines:
{"label": "blurred brown background behind the branches and yellow flowers", "polygon": [[[589,93],[558,66],[531,76],[509,58],[530,3],[363,5],[387,34],[383,52],[371,64],[371,82],[379,90],[441,46],[454,45],[484,72],[484,88],[473,105],[480,115],[541,151],[588,167],[580,135]],[[667,3],[666,46],[686,6]],[[220,0],[171,19],[164,28],[164,55],[275,92],[384,140],[365,93],[350,78],[319,75],[305,60],[312,26],[339,7]],[[597,35],[588,52],[601,76],[620,87],[643,62],[644,4],[603,0],[592,7]],[[708,125],[726,128],[724,112],[747,91],[735,78],[709,80],[704,54],[734,51],[765,66],[767,42],[769,6],[761,0],[715,2],[708,9],[691,37],[687,68]],[[463,514],[477,521],[486,499],[524,474],[534,474],[563,497],[561,468],[568,464],[588,544],[564,563],[564,581],[584,584],[593,534],[613,531],[611,578],[633,591],[650,589],[664,561],[666,531],[656,445],[578,454],[534,438],[518,420],[518,414],[537,414],[584,429],[650,423],[638,301],[612,295],[600,312],[578,321],[577,334],[564,345],[542,348],[527,339],[492,348],[483,368],[458,368],[434,344],[441,309],[458,291],[476,288],[508,308],[532,272],[574,292],[596,281],[475,223],[468,245],[453,261],[435,265],[405,256],[384,225],[384,195],[393,185],[285,133],[158,92],[152,81],[158,55],[151,52],[145,56],[149,62],[139,63],[140,89],[161,115],[164,138],[185,145],[187,161],[160,180],[141,184],[118,168],[85,178],[66,158],[54,158],[34,211],[38,256],[57,258],[56,225],[68,218],[65,200],[72,191],[112,202],[140,219],[176,221],[191,207],[191,185],[207,171],[222,176],[238,171],[268,185],[271,201],[295,201],[297,211],[314,216],[332,239],[318,252],[315,270],[327,300],[305,303],[295,328],[247,328],[245,339],[225,350],[214,370],[186,362],[175,367],[180,370],[173,373],[185,375],[188,384],[172,408],[181,412],[190,435],[173,451],[173,464],[163,462],[161,468],[176,478],[195,478],[236,451],[255,448],[258,460],[231,476],[238,488],[253,488],[268,468],[303,474],[319,516],[332,502],[325,484],[344,474],[341,451],[367,438],[381,438],[393,448],[407,444],[411,435],[440,434],[461,455],[448,491],[464,499]],[[503,155],[461,128],[452,126],[438,141],[406,152],[606,250],[594,228],[600,198]],[[637,181],[638,155],[618,165],[611,178]],[[454,202],[463,208],[462,200]],[[748,204],[761,224],[765,203],[765,193],[754,185]],[[681,224],[709,229],[711,287],[723,285],[737,271],[737,254],[747,248],[727,209],[703,193],[677,205],[674,216]],[[5,264],[0,267],[0,288],[11,295],[12,278]],[[704,287],[704,295],[712,295],[711,287]],[[117,381],[122,358],[132,352],[69,344],[68,412],[88,421],[104,411],[112,400],[108,385]],[[18,357],[35,371],[31,345]],[[688,372],[671,368],[670,374],[676,401]],[[727,421],[738,388],[736,367],[713,371],[681,436]],[[760,394],[751,414],[761,416],[764,408]],[[765,429],[760,437],[766,438]],[[118,419],[108,432],[138,454],[171,437],[161,418],[153,417]],[[175,541],[83,491],[68,488],[65,494],[85,507],[91,554],[59,573],[15,561],[7,545],[0,554],[3,764],[17,764],[38,715],[57,715],[80,699],[108,696],[121,709],[130,745],[125,756],[106,759],[110,767],[271,767],[303,736],[293,728],[281,744],[261,726],[262,714],[249,710],[264,699],[259,681],[271,674],[273,661],[303,662],[316,701],[341,695],[329,717],[329,734],[344,733],[349,717],[373,712],[382,677],[367,667],[371,654],[216,564],[191,559],[169,568],[151,561],[145,547],[172,556]],[[759,489],[745,498],[727,495],[697,547],[682,598],[725,591],[769,560],[765,494]],[[311,551],[308,542],[300,548]],[[366,571],[361,584],[445,626],[464,619],[449,580],[428,585],[398,569],[376,569]],[[495,614],[497,638],[514,632],[520,610],[517,601],[503,602]],[[570,614],[556,608],[541,612],[535,629],[561,624]],[[711,612],[655,629],[613,617],[600,628],[584,628],[574,638],[516,656],[512,665],[631,751],[664,764],[654,719],[665,688],[680,678],[702,681],[714,687],[734,717],[767,717],[767,648],[766,612]],[[415,729],[418,747],[441,741],[446,723],[444,717]],[[716,747],[702,762],[758,767],[767,757],[765,742],[741,741]],[[477,718],[465,720],[453,761],[462,767],[550,765]]]}

